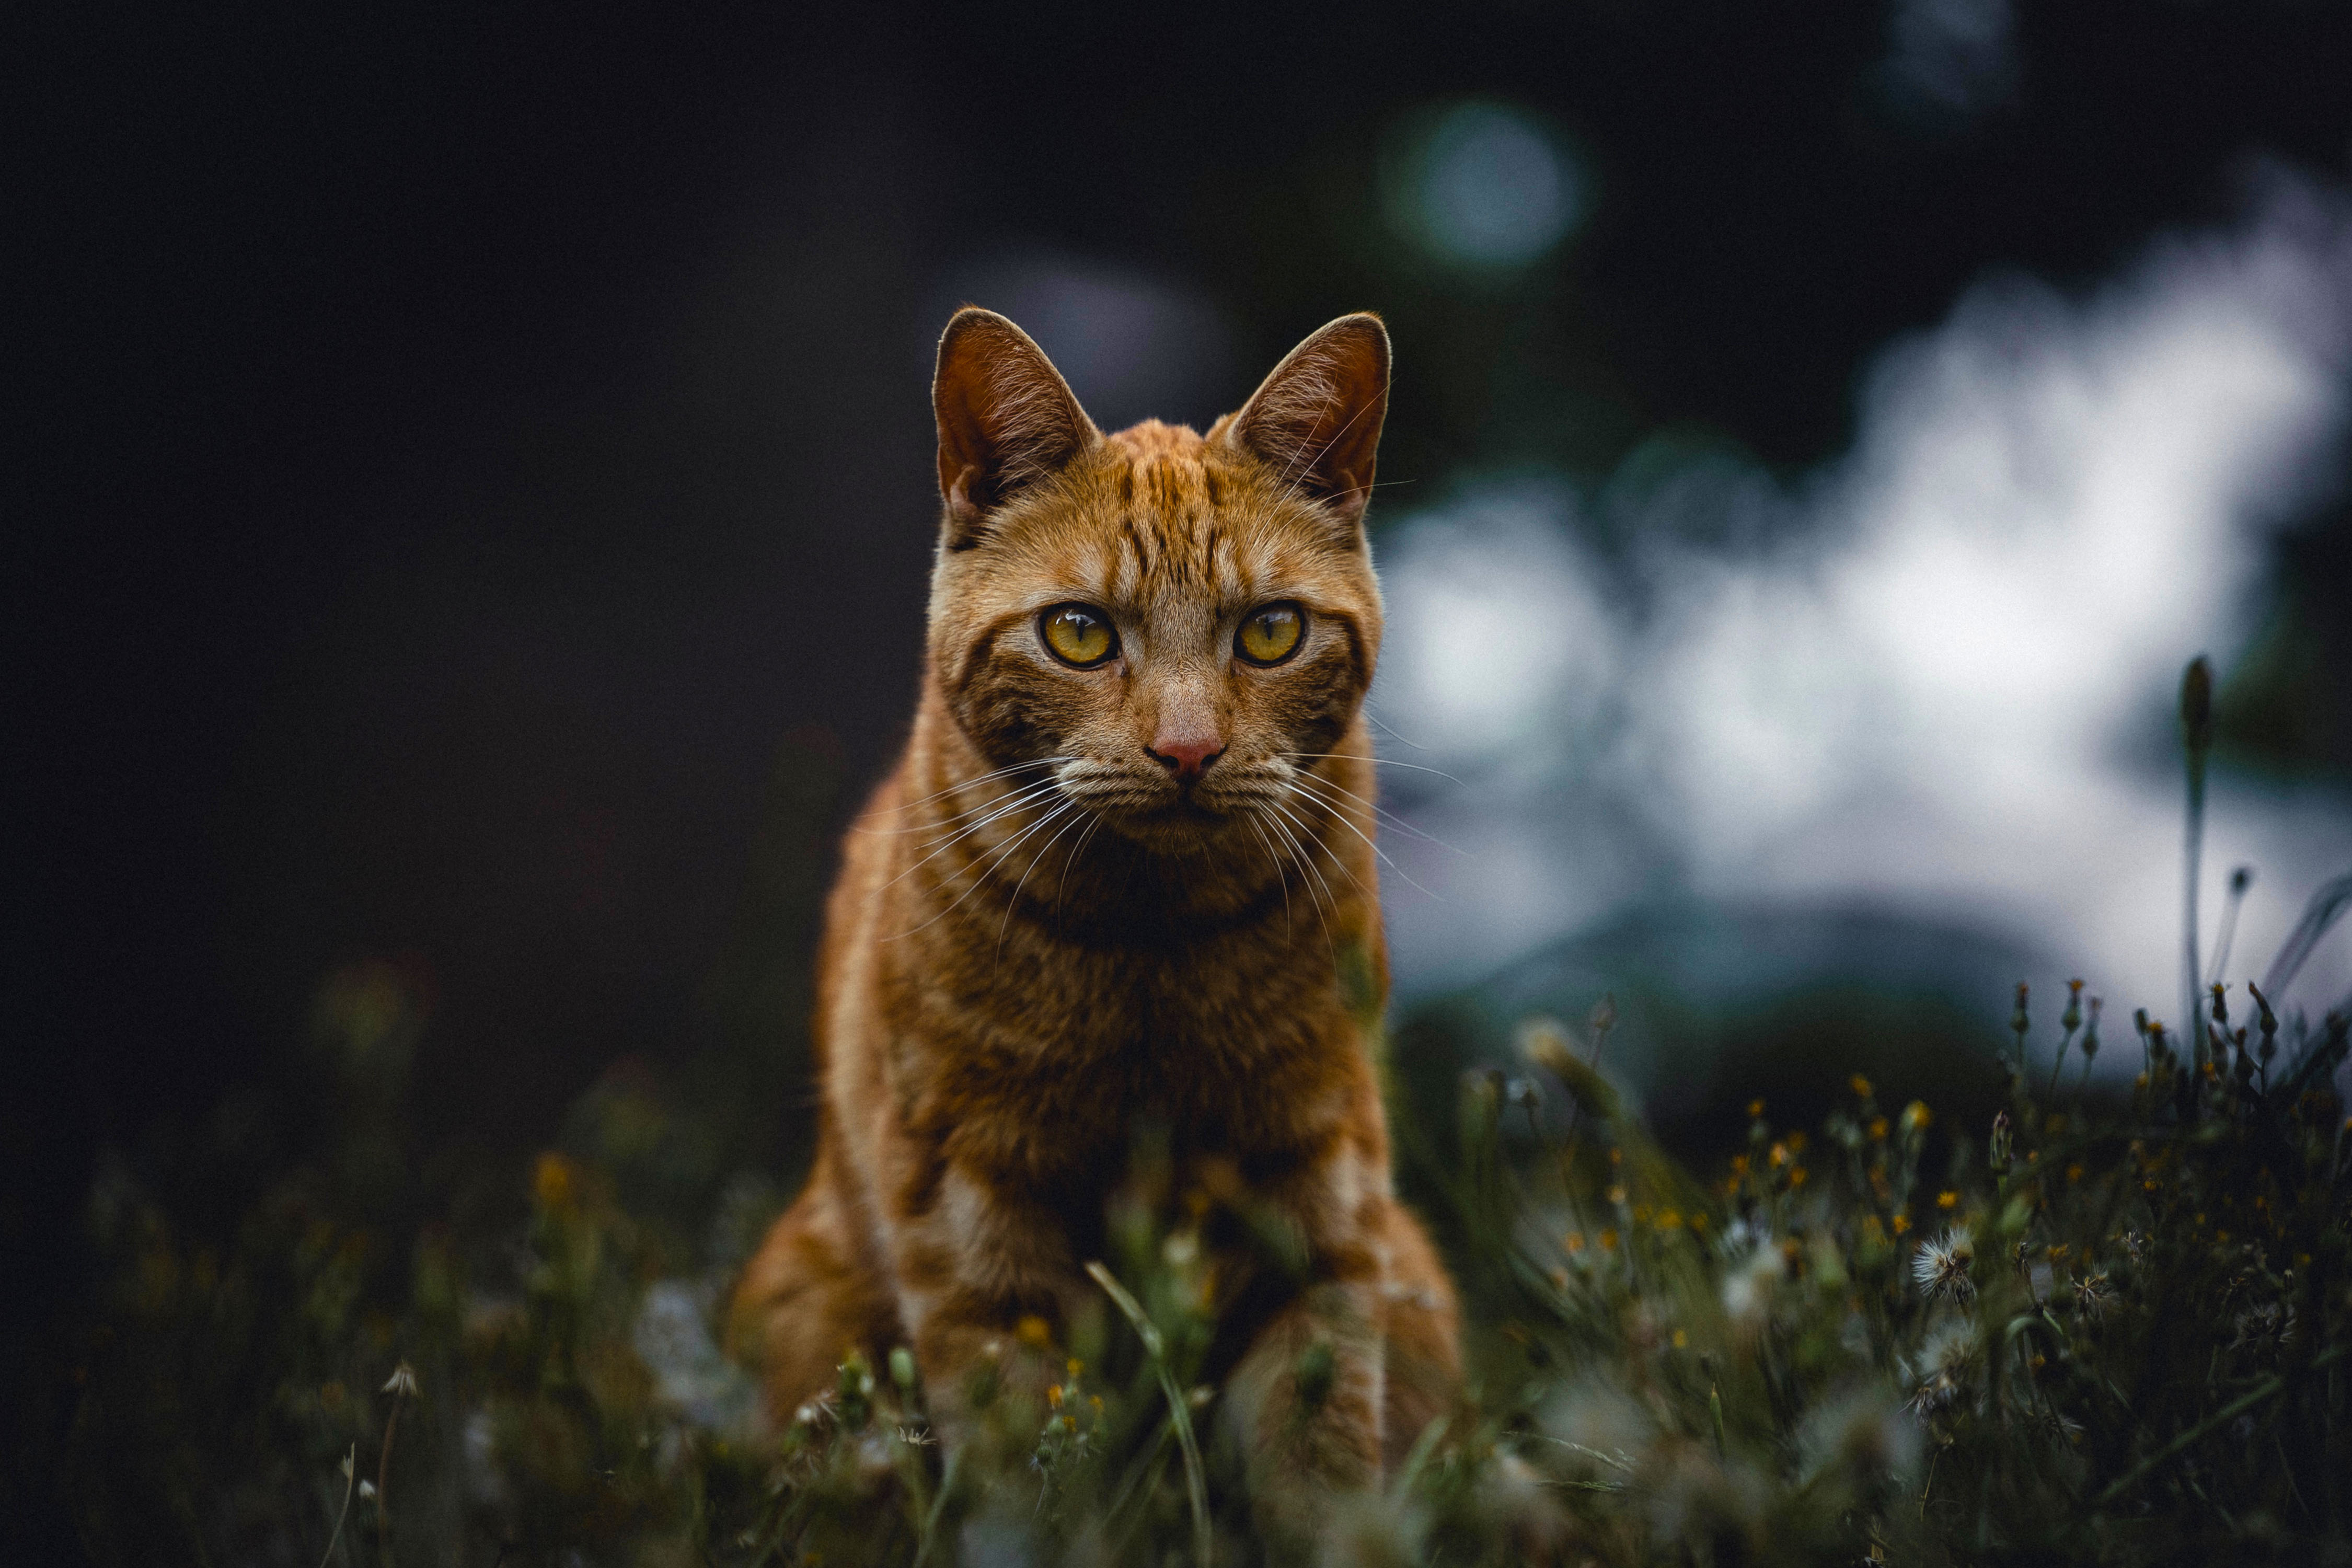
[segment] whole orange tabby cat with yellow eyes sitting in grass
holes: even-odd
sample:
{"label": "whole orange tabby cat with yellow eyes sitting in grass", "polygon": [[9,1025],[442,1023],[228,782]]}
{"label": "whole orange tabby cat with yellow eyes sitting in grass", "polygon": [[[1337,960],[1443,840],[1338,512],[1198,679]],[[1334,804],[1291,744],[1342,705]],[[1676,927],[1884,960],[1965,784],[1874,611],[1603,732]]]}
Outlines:
{"label": "whole orange tabby cat with yellow eyes sitting in grass", "polygon": [[1105,1194],[1136,1128],[1169,1128],[1176,1192],[1272,1218],[1305,1260],[1218,1274],[1221,1420],[1261,1519],[1296,1528],[1376,1483],[1458,1375],[1367,1053],[1388,331],[1331,322],[1207,435],[1103,435],[967,308],[934,407],[922,701],[833,891],[816,1168],[734,1342],[776,1413],[851,1347],[908,1342],[953,1441],[1021,1319],[1098,1305]]}

